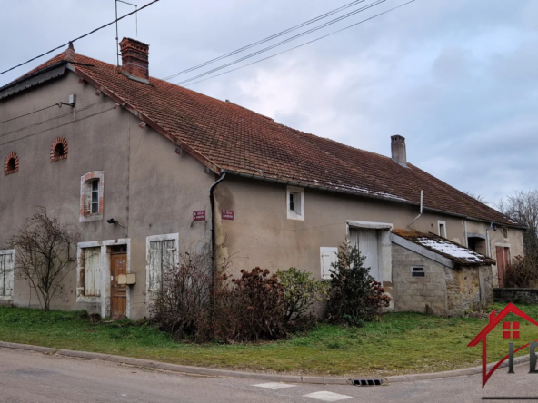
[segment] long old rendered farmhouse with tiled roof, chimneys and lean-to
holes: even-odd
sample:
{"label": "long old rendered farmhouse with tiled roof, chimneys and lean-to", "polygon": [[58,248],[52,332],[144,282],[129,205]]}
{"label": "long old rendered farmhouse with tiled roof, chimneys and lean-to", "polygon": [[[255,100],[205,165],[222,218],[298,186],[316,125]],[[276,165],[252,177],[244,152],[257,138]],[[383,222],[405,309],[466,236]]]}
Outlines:
{"label": "long old rendered farmhouse with tiled roof, chimneys and lean-to", "polygon": [[[224,240],[236,270],[326,279],[347,237],[392,309],[457,315],[523,255],[519,223],[407,162],[402,136],[385,157],[299,132],[151,77],[149,46],[120,46],[122,66],[69,47],[0,88],[0,245],[37,206],[82,232],[53,308],[142,318],[179,253]],[[0,249],[0,302],[35,306]]]}

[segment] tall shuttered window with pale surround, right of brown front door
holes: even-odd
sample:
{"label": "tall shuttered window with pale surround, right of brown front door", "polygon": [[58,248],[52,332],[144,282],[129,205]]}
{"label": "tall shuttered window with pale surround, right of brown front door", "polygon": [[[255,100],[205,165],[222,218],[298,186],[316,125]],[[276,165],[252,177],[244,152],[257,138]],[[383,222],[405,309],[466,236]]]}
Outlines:
{"label": "tall shuttered window with pale surround, right of brown front door", "polygon": [[155,300],[163,287],[164,276],[174,269],[178,262],[178,234],[147,237],[147,297]]}

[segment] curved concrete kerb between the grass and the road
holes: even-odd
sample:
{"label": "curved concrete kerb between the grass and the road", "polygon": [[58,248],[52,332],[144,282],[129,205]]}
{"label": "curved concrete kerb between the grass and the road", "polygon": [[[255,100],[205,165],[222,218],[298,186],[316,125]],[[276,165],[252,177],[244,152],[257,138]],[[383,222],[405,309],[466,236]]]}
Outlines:
{"label": "curved concrete kerb between the grass and the road", "polygon": [[[43,354],[72,357],[77,359],[100,359],[103,361],[117,362],[119,364],[133,365],[147,369],[160,369],[165,371],[180,372],[189,375],[200,375],[206,377],[224,377],[224,378],[252,378],[259,380],[267,380],[273,382],[287,383],[307,383],[307,384],[324,384],[324,385],[350,385],[350,378],[333,378],[333,377],[307,377],[296,375],[278,375],[278,374],[260,374],[255,372],[242,372],[228,369],[213,369],[204,367],[192,367],[187,365],[168,364],[165,362],[152,361],[148,359],[133,359],[131,357],[121,357],[109,354],[93,353],[86,351],[75,351],[71,349],[51,349],[48,347],[32,346],[29,344],[8,343],[0,341],[0,348],[4,349],[24,349],[27,351],[35,351]],[[528,362],[529,355],[517,357],[513,359],[513,364],[521,364]],[[492,369],[495,364],[488,364],[487,369]],[[500,368],[508,366],[508,362],[504,361]],[[394,377],[386,377],[384,383],[396,382],[414,382],[418,380],[456,378],[482,373],[482,367],[473,367],[467,369],[454,369],[452,371],[433,372],[428,374],[413,374],[413,375],[396,375]],[[363,377],[357,377],[363,378]]]}

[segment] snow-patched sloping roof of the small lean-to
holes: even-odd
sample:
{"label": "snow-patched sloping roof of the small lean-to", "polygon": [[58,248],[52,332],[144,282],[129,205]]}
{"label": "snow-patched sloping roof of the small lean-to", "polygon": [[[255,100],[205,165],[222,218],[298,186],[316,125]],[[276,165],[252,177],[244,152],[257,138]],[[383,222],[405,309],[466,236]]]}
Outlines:
{"label": "snow-patched sloping roof of the small lean-to", "polygon": [[407,241],[412,241],[423,248],[433,251],[447,259],[453,260],[457,266],[483,266],[495,264],[495,260],[481,253],[465,248],[459,243],[449,241],[432,232],[393,230],[395,235]]}

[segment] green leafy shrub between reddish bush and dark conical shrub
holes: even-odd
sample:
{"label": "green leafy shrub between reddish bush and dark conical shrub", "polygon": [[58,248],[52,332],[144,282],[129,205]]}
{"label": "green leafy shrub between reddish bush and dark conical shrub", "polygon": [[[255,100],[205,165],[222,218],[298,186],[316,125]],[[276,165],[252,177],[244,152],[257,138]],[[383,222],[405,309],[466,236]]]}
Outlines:
{"label": "green leafy shrub between reddish bush and dark conical shrub", "polygon": [[278,279],[284,287],[284,323],[288,328],[308,329],[317,320],[316,302],[326,299],[329,283],[312,278],[312,273],[297,270],[278,270]]}

